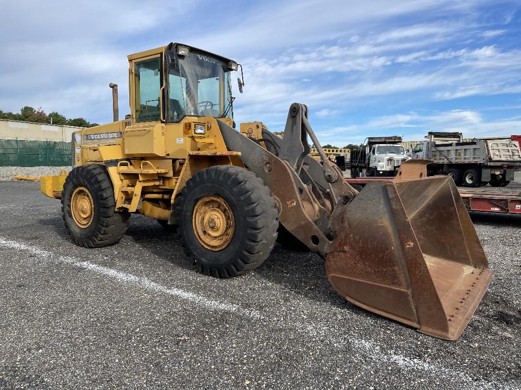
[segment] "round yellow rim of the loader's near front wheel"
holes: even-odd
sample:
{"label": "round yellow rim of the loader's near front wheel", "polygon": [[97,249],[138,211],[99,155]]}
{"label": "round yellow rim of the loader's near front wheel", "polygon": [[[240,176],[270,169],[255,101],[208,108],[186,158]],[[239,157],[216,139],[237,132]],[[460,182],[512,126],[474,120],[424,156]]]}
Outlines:
{"label": "round yellow rim of the loader's near front wheel", "polygon": [[231,207],[216,195],[201,198],[194,207],[192,227],[204,248],[210,251],[225,249],[235,230]]}

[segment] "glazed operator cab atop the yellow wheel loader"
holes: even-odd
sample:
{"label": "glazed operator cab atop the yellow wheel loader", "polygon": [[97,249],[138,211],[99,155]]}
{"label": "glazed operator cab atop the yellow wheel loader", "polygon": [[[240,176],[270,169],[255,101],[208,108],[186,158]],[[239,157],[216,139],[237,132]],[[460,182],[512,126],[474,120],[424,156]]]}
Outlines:
{"label": "glazed operator cab atop the yellow wheel loader", "polygon": [[174,43],[128,59],[133,123],[179,123],[185,116],[233,119],[235,61]]}

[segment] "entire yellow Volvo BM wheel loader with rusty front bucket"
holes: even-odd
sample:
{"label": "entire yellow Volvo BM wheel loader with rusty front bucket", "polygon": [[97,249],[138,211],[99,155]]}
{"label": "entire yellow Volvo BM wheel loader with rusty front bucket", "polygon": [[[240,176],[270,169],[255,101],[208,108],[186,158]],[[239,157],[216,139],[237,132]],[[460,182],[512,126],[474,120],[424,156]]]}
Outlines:
{"label": "entire yellow Volvo BM wheel loader with rusty front bucket", "polygon": [[282,230],[325,258],[353,304],[461,335],[492,272],[450,177],[427,177],[427,161],[412,160],[358,192],[326,157],[305,105],[291,105],[283,137],[261,122],[235,129],[237,62],[176,43],[128,59],[131,114],[118,120],[110,84],[115,122],[77,131],[72,171],[41,177],[76,244],[115,244],[140,213],[177,227],[201,272],[228,278],[260,266]]}

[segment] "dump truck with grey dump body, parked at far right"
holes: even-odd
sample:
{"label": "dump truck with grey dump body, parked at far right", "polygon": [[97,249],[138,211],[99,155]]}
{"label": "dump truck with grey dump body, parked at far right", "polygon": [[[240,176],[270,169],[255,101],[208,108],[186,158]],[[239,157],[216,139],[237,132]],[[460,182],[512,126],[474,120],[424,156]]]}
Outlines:
{"label": "dump truck with grey dump body, parked at far right", "polygon": [[504,187],[521,166],[519,142],[511,139],[474,139],[464,142],[462,133],[429,132],[411,152],[413,159],[433,160],[429,174],[449,175],[456,185]]}

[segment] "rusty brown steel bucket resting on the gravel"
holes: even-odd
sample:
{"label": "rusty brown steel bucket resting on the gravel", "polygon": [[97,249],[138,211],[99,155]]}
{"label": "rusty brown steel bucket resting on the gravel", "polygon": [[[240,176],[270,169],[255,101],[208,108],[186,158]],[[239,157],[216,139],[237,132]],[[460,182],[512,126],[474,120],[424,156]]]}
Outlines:
{"label": "rusty brown steel bucket resting on the gravel", "polygon": [[425,177],[423,161],[404,167],[347,206],[327,275],[353,304],[456,340],[493,273],[453,180]]}

